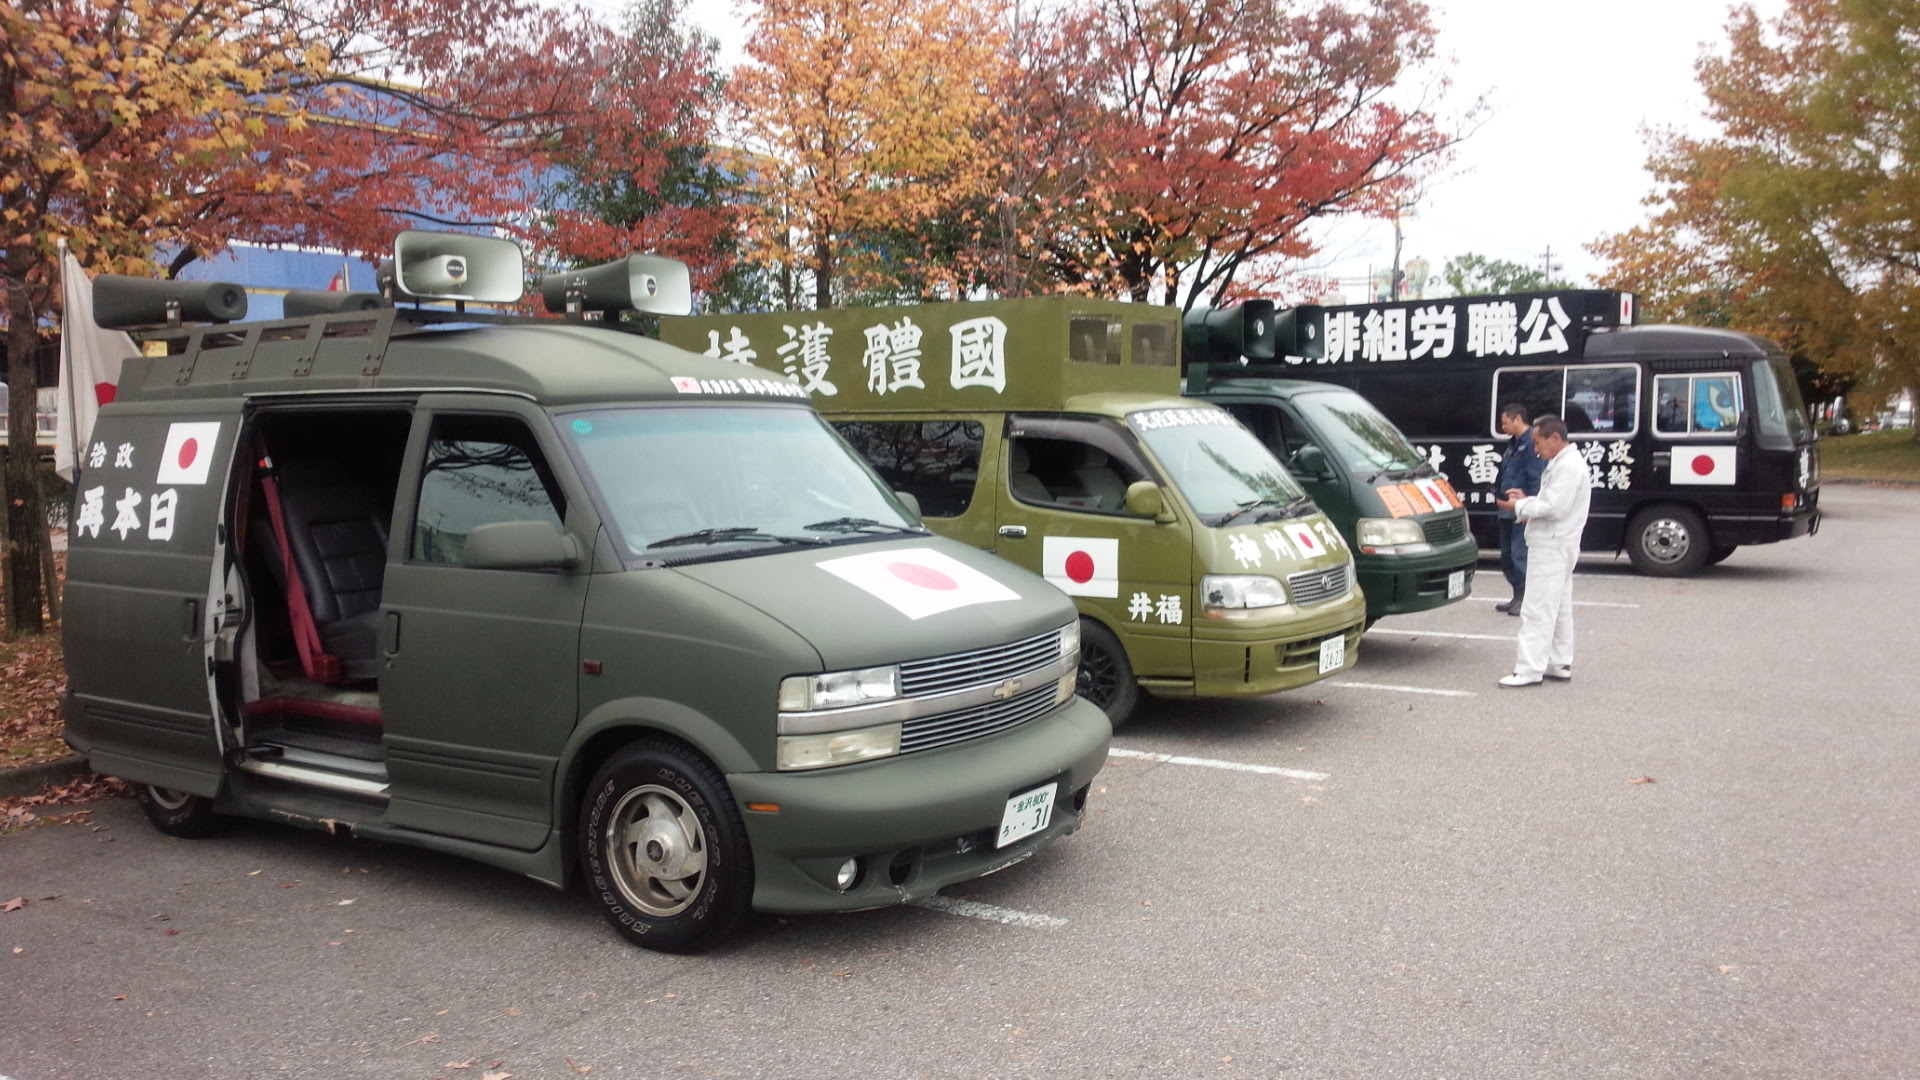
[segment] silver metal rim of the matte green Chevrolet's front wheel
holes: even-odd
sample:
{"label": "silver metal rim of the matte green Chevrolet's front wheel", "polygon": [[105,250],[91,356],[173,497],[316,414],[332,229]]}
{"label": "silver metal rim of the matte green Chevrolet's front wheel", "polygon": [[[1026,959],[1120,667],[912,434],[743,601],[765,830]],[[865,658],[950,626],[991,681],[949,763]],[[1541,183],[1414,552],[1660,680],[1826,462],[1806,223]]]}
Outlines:
{"label": "silver metal rim of the matte green Chevrolet's front wheel", "polygon": [[707,830],[676,792],[634,788],[607,817],[607,851],[620,896],[639,911],[680,915],[707,882]]}

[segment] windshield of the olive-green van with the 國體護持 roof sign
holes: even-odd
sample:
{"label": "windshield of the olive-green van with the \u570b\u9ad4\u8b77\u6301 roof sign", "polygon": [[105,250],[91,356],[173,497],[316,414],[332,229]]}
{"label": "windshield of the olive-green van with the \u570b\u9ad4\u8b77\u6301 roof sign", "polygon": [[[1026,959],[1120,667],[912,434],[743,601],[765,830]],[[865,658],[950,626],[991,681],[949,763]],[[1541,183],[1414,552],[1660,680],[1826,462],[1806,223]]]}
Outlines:
{"label": "windshield of the olive-green van with the \u570b\u9ad4\u8b77\u6301 roof sign", "polygon": [[1273,454],[1227,409],[1150,409],[1131,413],[1127,427],[1202,519],[1311,505]]}

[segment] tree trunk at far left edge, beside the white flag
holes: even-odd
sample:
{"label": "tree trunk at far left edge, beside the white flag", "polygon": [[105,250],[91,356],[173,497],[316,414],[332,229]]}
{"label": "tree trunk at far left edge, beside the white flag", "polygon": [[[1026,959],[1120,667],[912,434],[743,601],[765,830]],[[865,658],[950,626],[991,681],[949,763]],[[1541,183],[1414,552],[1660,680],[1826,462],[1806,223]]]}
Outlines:
{"label": "tree trunk at far left edge, beside the white flag", "polygon": [[[23,267],[29,252],[15,246],[8,252],[10,267]],[[25,275],[21,275],[25,277]],[[40,461],[38,461],[38,380],[33,371],[33,354],[40,344],[35,332],[33,298],[27,288],[8,290],[8,454],[6,454],[6,540],[4,540],[4,588],[6,588],[6,640],[46,630],[40,615],[44,594],[40,590],[40,559],[46,550],[40,540],[46,536],[46,511],[40,507]]]}

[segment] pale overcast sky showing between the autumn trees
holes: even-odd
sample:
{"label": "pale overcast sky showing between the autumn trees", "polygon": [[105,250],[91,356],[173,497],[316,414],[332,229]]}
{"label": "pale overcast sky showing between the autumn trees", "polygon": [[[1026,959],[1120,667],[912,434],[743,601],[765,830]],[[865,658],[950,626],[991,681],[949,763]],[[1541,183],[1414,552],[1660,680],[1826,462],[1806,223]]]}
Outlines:
{"label": "pale overcast sky showing between the autumn trees", "polygon": [[[614,12],[622,0],[589,0]],[[956,0],[966,2],[966,0]],[[1459,146],[1402,223],[1404,259],[1425,256],[1438,277],[1448,258],[1476,252],[1540,265],[1548,248],[1561,275],[1586,282],[1599,261],[1584,246],[1645,219],[1645,127],[1701,131],[1693,61],[1720,50],[1726,0],[1430,0],[1438,46],[1452,65],[1446,108],[1488,100]],[[1778,15],[1784,0],[1757,0]],[[741,60],[745,19],[732,0],[691,0],[691,19],[720,38],[722,63]],[[1323,231],[1325,252],[1302,267],[1338,279],[1361,300],[1369,271],[1394,256],[1392,225],[1350,221]]]}

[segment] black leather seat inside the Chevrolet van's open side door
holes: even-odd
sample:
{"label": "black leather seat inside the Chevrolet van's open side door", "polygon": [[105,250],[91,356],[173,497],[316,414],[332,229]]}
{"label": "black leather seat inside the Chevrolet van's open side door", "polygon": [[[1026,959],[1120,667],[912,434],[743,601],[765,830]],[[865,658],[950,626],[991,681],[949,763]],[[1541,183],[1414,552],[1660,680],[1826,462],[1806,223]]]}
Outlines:
{"label": "black leather seat inside the Chevrolet van's open side door", "polygon": [[386,511],[336,461],[286,461],[280,513],[321,646],[348,678],[378,678]]}

